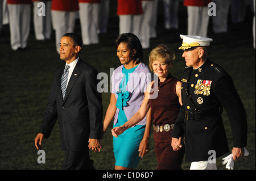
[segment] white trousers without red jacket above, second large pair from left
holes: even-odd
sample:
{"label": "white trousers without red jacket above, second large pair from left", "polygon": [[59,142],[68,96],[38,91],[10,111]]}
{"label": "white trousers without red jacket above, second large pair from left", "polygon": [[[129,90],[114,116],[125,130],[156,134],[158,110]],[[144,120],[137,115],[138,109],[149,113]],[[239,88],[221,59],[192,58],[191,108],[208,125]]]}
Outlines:
{"label": "white trousers without red jacket above, second large pair from left", "polygon": [[[42,13],[40,9],[43,7],[40,6],[40,1],[34,2],[34,27],[35,27],[35,37],[36,40],[45,40],[51,38],[52,32],[52,22],[51,22],[51,1],[44,2],[45,5],[45,15],[38,14]],[[39,5],[39,7],[38,7]]]}

